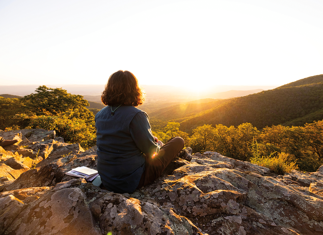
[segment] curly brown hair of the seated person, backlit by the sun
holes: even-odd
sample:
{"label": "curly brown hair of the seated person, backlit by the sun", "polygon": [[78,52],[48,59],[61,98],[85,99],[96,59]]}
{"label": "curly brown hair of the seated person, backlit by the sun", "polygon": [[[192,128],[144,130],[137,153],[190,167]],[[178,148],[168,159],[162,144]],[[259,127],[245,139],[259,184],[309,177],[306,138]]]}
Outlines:
{"label": "curly brown hair of the seated person, backlit by the sun", "polygon": [[131,72],[119,70],[111,74],[101,95],[105,105],[138,106],[145,100],[145,93]]}

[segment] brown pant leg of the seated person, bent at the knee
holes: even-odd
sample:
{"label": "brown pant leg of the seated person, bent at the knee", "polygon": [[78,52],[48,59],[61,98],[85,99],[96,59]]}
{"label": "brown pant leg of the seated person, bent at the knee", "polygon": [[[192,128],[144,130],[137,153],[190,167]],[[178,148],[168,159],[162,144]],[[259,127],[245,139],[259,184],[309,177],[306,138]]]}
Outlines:
{"label": "brown pant leg of the seated person, bent at the knee", "polygon": [[184,147],[184,140],[181,137],[173,137],[159,150],[154,158],[147,157],[145,171],[142,173],[137,188],[148,185],[157,179],[163,170],[178,156]]}

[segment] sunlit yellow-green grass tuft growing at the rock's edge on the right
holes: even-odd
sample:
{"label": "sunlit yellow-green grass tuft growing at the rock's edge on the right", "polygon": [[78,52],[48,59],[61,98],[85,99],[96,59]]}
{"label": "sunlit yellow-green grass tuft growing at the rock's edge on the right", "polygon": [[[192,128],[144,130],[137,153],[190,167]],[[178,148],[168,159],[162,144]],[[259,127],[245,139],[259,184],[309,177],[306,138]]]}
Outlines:
{"label": "sunlit yellow-green grass tuft growing at the rock's edge on the right", "polygon": [[286,153],[279,153],[278,156],[255,156],[252,157],[251,163],[257,164],[258,166],[264,166],[272,170],[278,175],[284,175],[285,172],[289,173],[292,170],[297,170],[298,166],[296,161],[291,161],[290,156]]}

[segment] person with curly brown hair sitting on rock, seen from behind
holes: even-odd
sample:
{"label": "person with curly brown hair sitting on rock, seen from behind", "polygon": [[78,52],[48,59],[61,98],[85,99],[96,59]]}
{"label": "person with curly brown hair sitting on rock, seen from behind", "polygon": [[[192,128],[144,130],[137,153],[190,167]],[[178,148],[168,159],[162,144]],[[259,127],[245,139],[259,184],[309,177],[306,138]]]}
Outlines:
{"label": "person with curly brown hair sitting on rock, seen from behind", "polygon": [[147,113],[136,108],[144,93],[131,72],[113,73],[101,101],[107,106],[95,115],[98,173],[109,191],[132,193],[154,182],[174,158],[191,161],[192,149],[183,149],[181,137],[159,146]]}

